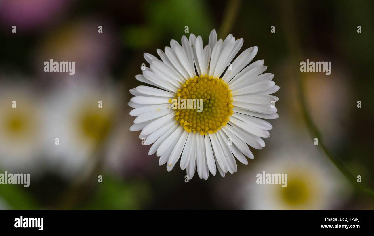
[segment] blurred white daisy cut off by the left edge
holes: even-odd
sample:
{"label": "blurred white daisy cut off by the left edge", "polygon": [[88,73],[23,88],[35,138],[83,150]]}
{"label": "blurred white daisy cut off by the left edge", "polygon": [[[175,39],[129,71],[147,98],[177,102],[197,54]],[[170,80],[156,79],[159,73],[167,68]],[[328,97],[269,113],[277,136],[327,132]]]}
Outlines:
{"label": "blurred white daisy cut off by the left edge", "polygon": [[[0,91],[0,168],[37,170],[43,135],[43,109],[28,86],[3,85]],[[33,172],[34,173],[34,172]]]}

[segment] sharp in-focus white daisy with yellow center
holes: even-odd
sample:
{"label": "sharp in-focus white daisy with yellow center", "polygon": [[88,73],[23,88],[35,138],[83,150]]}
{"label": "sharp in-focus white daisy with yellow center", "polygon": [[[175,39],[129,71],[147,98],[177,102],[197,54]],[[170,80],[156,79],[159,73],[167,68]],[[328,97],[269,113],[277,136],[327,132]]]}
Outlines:
{"label": "sharp in-focus white daisy with yellow center", "polygon": [[[243,39],[232,34],[217,40],[213,30],[209,44],[203,47],[200,36],[182,37],[182,46],[171,40],[165,52],[157,49],[161,60],[144,53],[150,64],[135,78],[152,86],[130,90],[130,115],[135,116],[131,131],[141,130],[145,145],[153,143],[149,154],[160,156],[159,164],[167,163],[171,171],[181,156],[181,169],[187,176],[197,174],[205,180],[209,171],[225,176],[237,171],[235,158],[247,164],[254,158],[248,145],[262,149],[272,125],[264,119],[276,119],[277,109],[270,96],[279,90],[274,75],[263,73],[264,60],[249,62],[258,48],[244,50],[232,62],[243,45]],[[229,64],[231,63],[232,64]],[[248,66],[247,66],[248,65]],[[175,107],[173,99],[202,99],[202,111]],[[196,100],[196,103],[198,102]],[[177,108],[177,109],[173,109]],[[178,109],[180,108],[180,109]],[[248,144],[248,145],[247,145]]]}

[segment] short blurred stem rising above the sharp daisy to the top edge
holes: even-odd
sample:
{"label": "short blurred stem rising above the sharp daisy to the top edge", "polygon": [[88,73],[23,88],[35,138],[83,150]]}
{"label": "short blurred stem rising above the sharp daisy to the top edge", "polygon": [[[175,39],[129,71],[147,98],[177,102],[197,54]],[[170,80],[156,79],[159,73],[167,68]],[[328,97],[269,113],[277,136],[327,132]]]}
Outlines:
{"label": "short blurred stem rising above the sharp daisy to the top edge", "polygon": [[229,0],[226,5],[226,12],[224,14],[223,20],[221,22],[220,30],[218,31],[220,37],[226,37],[226,35],[231,30],[236,16],[239,12],[241,5],[241,0]]}

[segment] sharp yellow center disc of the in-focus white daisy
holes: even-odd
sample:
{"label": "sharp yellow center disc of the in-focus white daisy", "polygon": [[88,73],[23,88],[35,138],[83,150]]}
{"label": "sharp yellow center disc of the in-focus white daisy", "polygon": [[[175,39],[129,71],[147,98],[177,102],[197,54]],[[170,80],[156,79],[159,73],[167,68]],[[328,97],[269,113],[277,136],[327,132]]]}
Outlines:
{"label": "sharp yellow center disc of the in-focus white daisy", "polygon": [[175,120],[187,132],[212,134],[227,124],[230,115],[233,114],[232,94],[229,86],[222,79],[208,75],[196,76],[181,85],[174,101],[175,99],[197,101],[197,103],[202,101],[200,104],[202,109],[195,106],[189,106],[188,109],[183,106],[176,108]]}

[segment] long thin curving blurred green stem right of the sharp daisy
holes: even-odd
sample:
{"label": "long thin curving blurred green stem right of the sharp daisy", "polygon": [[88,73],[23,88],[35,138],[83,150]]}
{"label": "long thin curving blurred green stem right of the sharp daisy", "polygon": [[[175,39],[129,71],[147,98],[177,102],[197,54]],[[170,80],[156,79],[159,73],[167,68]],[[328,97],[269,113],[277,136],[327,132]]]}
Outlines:
{"label": "long thin curving blurred green stem right of the sharp daisy", "polygon": [[[297,32],[297,29],[295,27],[295,19],[293,15],[294,11],[292,10],[293,2],[292,1],[282,2],[280,8],[281,8],[281,13],[282,13],[282,18],[284,20],[283,24],[284,24],[285,32],[288,32],[288,34],[286,35],[287,37],[286,40],[288,41],[289,49],[291,51],[292,63],[294,65],[299,65],[299,62],[301,61],[301,52],[300,52],[300,44],[298,40],[298,35],[295,33]],[[319,132],[316,125],[313,123],[313,120],[310,116],[310,113],[309,113],[309,110],[306,104],[306,99],[304,95],[305,94],[305,83],[304,83],[305,78],[295,73],[295,78],[297,77],[300,77],[300,79],[296,81],[296,83],[298,83],[298,98],[300,100],[301,111],[303,112],[303,117],[306,121],[306,125],[307,125],[307,128],[309,129],[310,134],[312,135],[313,138],[318,139],[318,146],[321,147],[325,155],[332,161],[332,163],[334,163],[334,165],[340,170],[340,172],[344,174],[344,176],[347,177],[347,179],[353,184],[353,186],[355,186],[356,189],[358,189],[359,191],[366,193],[370,195],[372,198],[374,198],[374,190],[366,186],[364,183],[358,183],[357,178],[353,176],[347,170],[347,168],[345,168],[344,165],[331,154],[331,152],[329,152],[324,142],[322,142],[321,133]]]}

